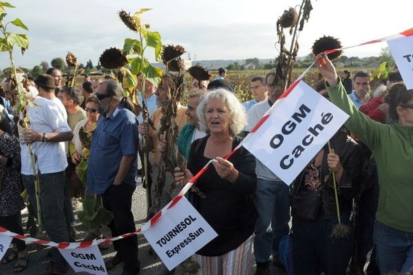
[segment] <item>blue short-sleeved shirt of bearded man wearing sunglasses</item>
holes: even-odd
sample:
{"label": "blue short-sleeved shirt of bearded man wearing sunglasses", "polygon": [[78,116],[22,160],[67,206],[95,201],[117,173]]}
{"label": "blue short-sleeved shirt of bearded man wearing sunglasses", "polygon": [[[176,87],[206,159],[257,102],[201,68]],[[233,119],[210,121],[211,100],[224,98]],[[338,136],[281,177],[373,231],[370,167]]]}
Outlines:
{"label": "blue short-sleeved shirt of bearded man wearing sunglasses", "polygon": [[109,118],[100,115],[90,146],[87,189],[103,194],[114,183],[124,155],[134,155],[134,160],[123,184],[136,185],[138,142],[138,120],[134,113],[117,107]]}

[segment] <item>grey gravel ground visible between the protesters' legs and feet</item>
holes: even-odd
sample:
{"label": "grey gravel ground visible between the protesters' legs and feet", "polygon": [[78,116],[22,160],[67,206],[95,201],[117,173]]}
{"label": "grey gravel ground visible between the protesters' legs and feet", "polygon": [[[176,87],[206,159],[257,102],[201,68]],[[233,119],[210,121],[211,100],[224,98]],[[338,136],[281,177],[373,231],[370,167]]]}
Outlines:
{"label": "grey gravel ground visible between the protesters' legs and feet", "polygon": [[[142,184],[138,183],[136,191],[134,193],[134,197],[132,198],[132,211],[134,212],[134,218],[136,223],[136,228],[140,227],[145,222],[146,217],[146,201],[145,201],[145,189],[142,188]],[[25,221],[27,219],[27,214],[23,215],[23,226],[25,227]],[[86,236],[86,232],[84,231],[83,226],[79,223],[78,219],[76,220],[78,224],[76,224],[76,230],[78,234],[76,235],[77,240],[81,240]],[[138,243],[139,243],[139,259],[141,262],[141,270],[140,274],[142,275],[160,275],[165,274],[165,267],[162,265],[162,262],[158,259],[158,257],[149,254],[150,245],[143,236],[143,234],[138,234]],[[35,275],[39,270],[42,268],[42,264],[50,260],[50,256],[47,256],[47,250],[36,250],[36,245],[29,244],[28,249],[30,252],[30,258],[28,262],[28,267],[21,273],[22,275]],[[104,261],[107,259],[112,258],[115,255],[114,249],[109,248],[107,250],[103,250],[102,256]],[[8,263],[7,265],[0,264],[0,275],[6,274],[13,274],[13,266],[15,261],[12,263]],[[122,267],[116,267],[114,270],[109,270],[109,275],[117,275],[122,274]],[[251,274],[255,272],[255,261],[253,260]],[[72,272],[75,274],[74,272]],[[79,273],[80,274],[80,273]],[[83,273],[86,274],[86,273]],[[176,270],[177,275],[184,275],[187,274],[182,272],[178,268]],[[271,265],[271,274],[280,274],[284,275],[285,273],[279,270],[275,265]]]}

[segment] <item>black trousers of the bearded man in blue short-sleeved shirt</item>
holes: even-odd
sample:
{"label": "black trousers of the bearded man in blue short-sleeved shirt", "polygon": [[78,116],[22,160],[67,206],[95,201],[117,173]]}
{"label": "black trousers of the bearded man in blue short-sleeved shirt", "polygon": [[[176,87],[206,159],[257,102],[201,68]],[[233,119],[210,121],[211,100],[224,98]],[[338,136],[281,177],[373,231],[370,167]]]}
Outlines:
{"label": "black trousers of the bearded man in blue short-sleeved shirt", "polygon": [[[132,195],[135,186],[120,184],[110,186],[102,195],[103,207],[112,211],[114,219],[109,223],[112,236],[135,232],[134,214],[131,211]],[[125,263],[123,270],[126,272],[136,272],[140,270],[138,260],[138,236],[129,236],[126,239],[114,241],[114,248]]]}

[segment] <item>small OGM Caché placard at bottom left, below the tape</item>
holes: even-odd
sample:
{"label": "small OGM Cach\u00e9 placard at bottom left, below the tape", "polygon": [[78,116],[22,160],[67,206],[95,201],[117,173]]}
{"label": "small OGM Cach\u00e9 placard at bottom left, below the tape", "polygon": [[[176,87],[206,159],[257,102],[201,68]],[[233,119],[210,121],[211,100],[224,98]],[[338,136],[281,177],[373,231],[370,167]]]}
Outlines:
{"label": "small OGM Cach\u00e9 placard at bottom left, below the tape", "polygon": [[89,248],[59,249],[59,251],[74,272],[107,275],[105,262],[98,245],[92,245]]}

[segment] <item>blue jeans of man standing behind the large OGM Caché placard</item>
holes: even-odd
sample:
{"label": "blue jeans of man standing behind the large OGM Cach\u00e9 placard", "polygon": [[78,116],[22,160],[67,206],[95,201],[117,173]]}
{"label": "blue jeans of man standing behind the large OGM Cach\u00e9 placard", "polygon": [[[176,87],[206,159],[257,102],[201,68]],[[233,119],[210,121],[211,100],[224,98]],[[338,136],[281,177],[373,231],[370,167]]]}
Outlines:
{"label": "blue jeans of man standing behind the large OGM Cach\u00e9 placard", "polygon": [[279,261],[278,243],[288,234],[290,221],[290,201],[288,186],[283,181],[257,179],[257,212],[255,223],[255,261],[267,263],[271,254],[273,261]]}

